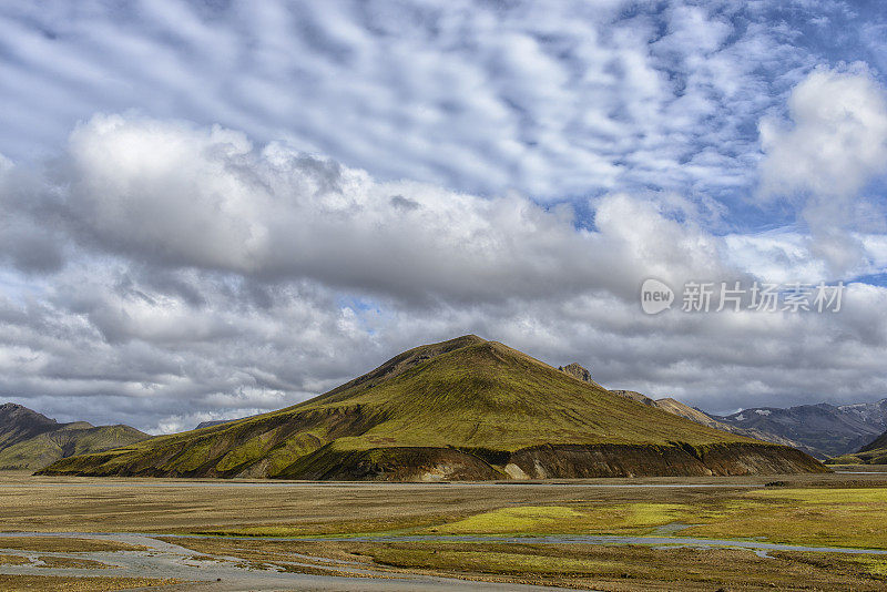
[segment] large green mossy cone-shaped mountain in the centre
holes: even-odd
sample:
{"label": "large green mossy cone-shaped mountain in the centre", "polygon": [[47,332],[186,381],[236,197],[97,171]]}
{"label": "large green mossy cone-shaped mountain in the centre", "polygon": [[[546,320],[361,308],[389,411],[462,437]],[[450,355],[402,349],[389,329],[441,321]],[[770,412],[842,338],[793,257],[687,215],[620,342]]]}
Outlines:
{"label": "large green mossy cone-shaped mountain in the centre", "polygon": [[827,470],[469,335],[279,411],[62,459],[43,474],[458,480]]}

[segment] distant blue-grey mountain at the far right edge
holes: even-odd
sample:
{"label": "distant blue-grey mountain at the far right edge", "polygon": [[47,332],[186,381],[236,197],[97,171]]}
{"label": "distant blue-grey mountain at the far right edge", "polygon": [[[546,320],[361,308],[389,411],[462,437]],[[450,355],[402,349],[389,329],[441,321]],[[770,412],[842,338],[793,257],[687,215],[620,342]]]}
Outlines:
{"label": "distant blue-grey mountain at the far right edge", "polygon": [[792,440],[805,452],[825,459],[857,450],[885,431],[885,401],[840,407],[828,404],[787,409],[757,407],[712,417],[728,426]]}

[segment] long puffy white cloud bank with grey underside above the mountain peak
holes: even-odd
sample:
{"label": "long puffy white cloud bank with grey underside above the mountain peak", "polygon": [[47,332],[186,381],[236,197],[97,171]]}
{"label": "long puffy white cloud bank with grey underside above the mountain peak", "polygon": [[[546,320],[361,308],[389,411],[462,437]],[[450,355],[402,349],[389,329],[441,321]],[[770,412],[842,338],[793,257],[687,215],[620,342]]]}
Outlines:
{"label": "long puffy white cloud bank with grey underside above the mountain peak", "polygon": [[711,242],[703,233],[687,236],[667,208],[624,194],[599,201],[597,232],[578,232],[565,204],[378,182],[220,126],[122,115],[78,126],[63,162],[49,193],[63,196],[73,241],[159,267],[414,302],[633,294],[645,269],[671,273],[686,253],[700,254],[690,268],[717,273],[711,249],[694,248]]}

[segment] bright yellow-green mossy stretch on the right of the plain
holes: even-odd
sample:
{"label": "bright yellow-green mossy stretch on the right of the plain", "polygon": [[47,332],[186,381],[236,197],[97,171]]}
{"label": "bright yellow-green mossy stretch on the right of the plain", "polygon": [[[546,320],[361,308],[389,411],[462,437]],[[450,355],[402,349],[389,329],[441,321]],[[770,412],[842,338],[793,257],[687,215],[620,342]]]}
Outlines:
{"label": "bright yellow-green mossy stretch on the right of the plain", "polygon": [[650,534],[766,539],[812,547],[887,549],[887,489],[754,490],[696,503],[501,508],[426,529],[432,534]]}

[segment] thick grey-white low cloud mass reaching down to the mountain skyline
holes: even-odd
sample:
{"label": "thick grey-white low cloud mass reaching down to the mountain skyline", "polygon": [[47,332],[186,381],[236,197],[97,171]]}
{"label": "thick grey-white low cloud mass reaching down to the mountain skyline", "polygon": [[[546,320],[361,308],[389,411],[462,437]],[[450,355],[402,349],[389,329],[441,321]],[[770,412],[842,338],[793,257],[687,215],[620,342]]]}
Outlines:
{"label": "thick grey-white low cloud mass reaching down to the mountain skyline", "polygon": [[34,236],[63,264],[0,276],[0,392],[63,419],[83,400],[89,420],[161,431],[276,409],[466,333],[715,410],[887,386],[884,288],[853,284],[840,315],[643,315],[646,277],[827,277],[804,235],[717,236],[716,207],[671,194],[595,198],[587,228],[569,203],[378,181],[137,115],[96,115],[4,178],[12,218],[52,228]]}

